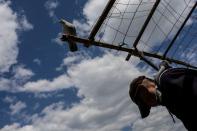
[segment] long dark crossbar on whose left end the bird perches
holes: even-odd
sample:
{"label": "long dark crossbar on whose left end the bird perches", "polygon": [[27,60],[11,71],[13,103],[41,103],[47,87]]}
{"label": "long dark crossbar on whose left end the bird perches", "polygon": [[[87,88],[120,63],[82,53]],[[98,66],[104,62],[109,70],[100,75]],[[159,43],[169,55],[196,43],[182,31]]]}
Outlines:
{"label": "long dark crossbar on whose left end the bird perches", "polygon": [[138,51],[136,51],[136,49],[120,47],[120,46],[111,45],[111,44],[100,42],[100,41],[92,41],[92,40],[89,40],[89,39],[79,38],[77,36],[63,35],[61,40],[62,41],[72,40],[72,41],[75,41],[77,43],[81,43],[81,44],[84,44],[84,45],[94,45],[94,46],[99,46],[99,47],[103,47],[103,48],[109,48],[109,49],[113,49],[113,50],[124,51],[124,52],[128,52],[131,55],[133,55],[135,57],[139,57],[139,58],[142,58],[141,54],[143,54],[143,56],[146,56],[146,57],[156,58],[156,59],[160,59],[160,60],[167,60],[171,63],[176,63],[176,64],[179,64],[179,65],[183,65],[183,66],[187,66],[187,67],[190,67],[190,68],[197,69],[197,67],[195,67],[195,66],[192,66],[190,64],[187,64],[185,62],[182,62],[182,61],[179,61],[179,60],[176,60],[176,59],[171,59],[171,58],[167,58],[167,57],[164,59],[164,57],[161,56],[161,55],[152,54],[152,53],[149,53],[149,52],[138,52]]}

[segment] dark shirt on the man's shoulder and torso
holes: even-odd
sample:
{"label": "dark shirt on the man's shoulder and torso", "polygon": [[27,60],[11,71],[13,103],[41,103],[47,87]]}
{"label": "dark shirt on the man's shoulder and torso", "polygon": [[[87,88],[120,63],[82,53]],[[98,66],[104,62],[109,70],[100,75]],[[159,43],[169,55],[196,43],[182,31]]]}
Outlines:
{"label": "dark shirt on the man's shoulder and torso", "polygon": [[197,131],[197,71],[169,68],[158,79],[161,105],[179,118],[189,131]]}

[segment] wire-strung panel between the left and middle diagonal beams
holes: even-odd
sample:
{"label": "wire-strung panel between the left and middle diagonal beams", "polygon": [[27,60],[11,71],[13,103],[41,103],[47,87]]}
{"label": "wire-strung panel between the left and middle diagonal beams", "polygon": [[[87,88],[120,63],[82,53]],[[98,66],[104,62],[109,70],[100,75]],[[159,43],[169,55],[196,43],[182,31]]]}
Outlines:
{"label": "wire-strung panel between the left and middle diagonal beams", "polygon": [[95,40],[133,48],[155,0],[116,0]]}

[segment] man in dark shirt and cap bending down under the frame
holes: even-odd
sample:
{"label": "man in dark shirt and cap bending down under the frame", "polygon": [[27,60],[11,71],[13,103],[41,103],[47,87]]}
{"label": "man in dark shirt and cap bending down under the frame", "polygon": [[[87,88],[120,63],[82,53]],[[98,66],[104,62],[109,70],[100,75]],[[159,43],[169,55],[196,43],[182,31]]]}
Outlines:
{"label": "man in dark shirt and cap bending down under the frame", "polygon": [[197,131],[196,70],[170,68],[164,63],[155,80],[145,76],[134,79],[129,95],[138,105],[142,118],[149,115],[151,107],[161,105],[171,116],[179,118],[189,131]]}

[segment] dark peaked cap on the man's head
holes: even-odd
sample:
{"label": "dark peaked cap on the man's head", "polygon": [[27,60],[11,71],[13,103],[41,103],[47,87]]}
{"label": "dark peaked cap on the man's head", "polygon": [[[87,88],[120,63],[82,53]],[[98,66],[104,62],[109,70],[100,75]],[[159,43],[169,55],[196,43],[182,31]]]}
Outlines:
{"label": "dark peaked cap on the man's head", "polygon": [[142,118],[145,118],[150,113],[150,106],[147,106],[143,101],[141,101],[138,97],[138,91],[139,91],[139,85],[142,83],[142,81],[145,79],[145,76],[139,76],[138,78],[135,78],[131,84],[129,89],[129,95],[131,97],[131,100],[137,104],[140,114]]}

